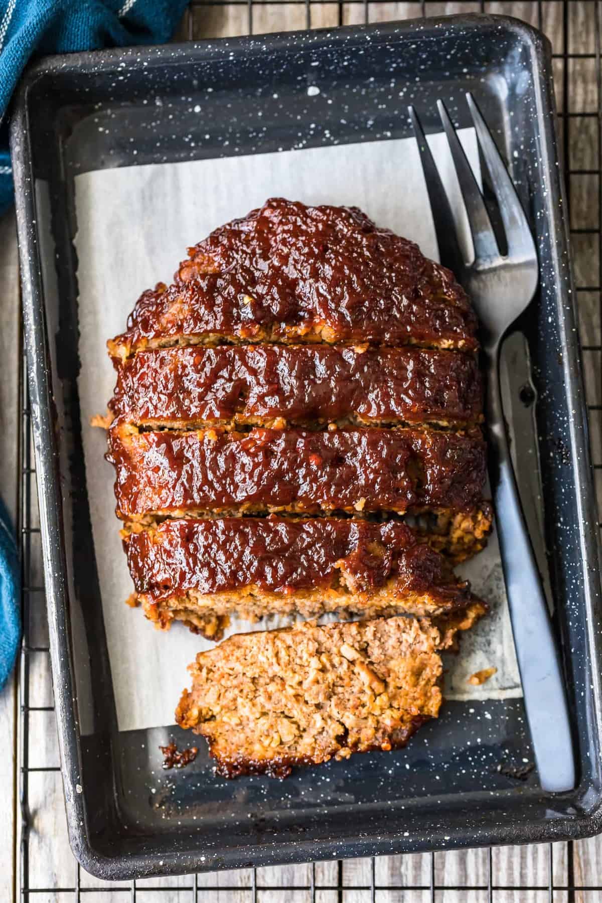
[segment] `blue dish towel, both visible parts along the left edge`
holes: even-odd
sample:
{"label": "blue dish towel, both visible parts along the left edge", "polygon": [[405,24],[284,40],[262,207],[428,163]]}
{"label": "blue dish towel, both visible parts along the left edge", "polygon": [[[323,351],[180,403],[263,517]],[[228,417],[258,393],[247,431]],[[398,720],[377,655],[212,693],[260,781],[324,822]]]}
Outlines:
{"label": "blue dish towel, both visible parts along the left edge", "polygon": [[[6,107],[25,65],[42,53],[168,41],[187,0],[0,0],[0,215],[13,203]],[[0,501],[0,688],[19,646],[19,558]]]}

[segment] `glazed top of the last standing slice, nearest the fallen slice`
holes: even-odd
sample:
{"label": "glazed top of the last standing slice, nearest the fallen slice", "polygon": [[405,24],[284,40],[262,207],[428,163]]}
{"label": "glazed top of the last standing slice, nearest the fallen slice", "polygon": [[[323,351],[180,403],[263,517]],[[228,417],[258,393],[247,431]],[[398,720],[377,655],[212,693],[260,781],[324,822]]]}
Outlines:
{"label": "glazed top of the last standing slice, nearest the fallen slice", "polygon": [[370,596],[390,580],[397,593],[446,605],[471,599],[449,563],[408,526],[351,518],[182,518],[125,535],[136,591],[157,601],[253,586],[293,595],[343,583]]}

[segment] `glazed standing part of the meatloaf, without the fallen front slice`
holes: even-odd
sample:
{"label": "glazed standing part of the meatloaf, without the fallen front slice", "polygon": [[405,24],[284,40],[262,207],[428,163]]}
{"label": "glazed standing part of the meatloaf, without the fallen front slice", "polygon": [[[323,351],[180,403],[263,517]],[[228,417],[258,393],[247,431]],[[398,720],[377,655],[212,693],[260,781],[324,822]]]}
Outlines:
{"label": "glazed standing part of the meatloaf, without the fallen front slice", "polygon": [[214,639],[234,615],[473,610],[452,563],[491,526],[476,328],[357,209],[268,200],[190,248],[108,342],[131,603]]}

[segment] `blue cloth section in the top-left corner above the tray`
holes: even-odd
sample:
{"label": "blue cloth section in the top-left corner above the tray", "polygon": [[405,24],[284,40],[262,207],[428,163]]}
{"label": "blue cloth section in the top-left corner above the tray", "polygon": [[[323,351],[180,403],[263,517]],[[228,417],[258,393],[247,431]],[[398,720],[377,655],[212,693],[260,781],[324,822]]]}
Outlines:
{"label": "blue cloth section in the top-left corner above the tray", "polygon": [[[169,41],[187,5],[188,0],[0,0],[0,120],[33,55]],[[0,129],[0,215],[12,203],[4,124]]]}

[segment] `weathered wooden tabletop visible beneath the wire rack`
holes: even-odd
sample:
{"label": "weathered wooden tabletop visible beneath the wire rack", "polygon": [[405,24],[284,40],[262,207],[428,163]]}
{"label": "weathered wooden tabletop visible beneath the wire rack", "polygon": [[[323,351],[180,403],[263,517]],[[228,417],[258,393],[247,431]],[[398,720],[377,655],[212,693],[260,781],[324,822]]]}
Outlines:
{"label": "weathered wooden tabletop visible beneath the wire rack", "polygon": [[[567,189],[570,204],[571,247],[579,290],[579,330],[587,382],[592,454],[597,465],[598,505],[602,501],[602,388],[600,367],[600,149],[599,33],[594,0],[529,0],[529,2],[389,3],[359,2],[261,2],[253,5],[194,4],[181,24],[179,38],[187,40],[248,33],[286,31],[295,28],[333,26],[366,21],[387,21],[466,12],[511,14],[540,26],[548,34],[555,53],[554,76],[560,112],[561,146],[568,163]],[[16,517],[21,479],[18,455],[19,371],[21,342],[19,283],[14,216],[0,220],[0,265],[3,284],[0,310],[0,486],[5,502]],[[33,573],[41,575],[39,549],[33,546]],[[40,578],[41,579],[41,578]],[[32,598],[36,634],[45,636],[43,594]],[[256,893],[249,870],[211,876],[169,880],[142,880],[134,885],[108,885],[79,870],[69,850],[60,784],[59,753],[52,712],[50,663],[47,653],[32,657],[30,704],[34,711],[21,712],[18,675],[0,694],[0,736],[5,755],[0,759],[0,903],[21,898],[19,873],[20,820],[18,788],[23,718],[29,719],[29,765],[51,766],[29,776],[32,829],[29,838],[29,887],[35,903],[68,903],[80,896],[90,903],[122,903],[151,900],[183,903],[195,898],[219,903],[302,903],[310,900],[310,881],[322,889],[320,903],[594,903],[602,901],[602,836],[575,843],[501,847],[493,851],[416,854],[319,863],[257,870]],[[379,888],[372,895],[372,876]],[[421,885],[425,890],[386,890],[387,885]],[[434,897],[430,888],[437,890]],[[207,887],[227,888],[203,891]],[[285,889],[286,887],[290,889]],[[345,888],[356,888],[348,889]],[[76,888],[79,888],[79,895]],[[296,888],[296,889],[292,889]],[[301,888],[301,889],[299,889]],[[306,889],[303,889],[306,888]],[[466,888],[477,888],[468,890]],[[520,888],[520,889],[518,889]],[[552,889],[553,888],[553,889]],[[37,889],[37,891],[36,891]],[[43,889],[43,890],[42,890]]]}

